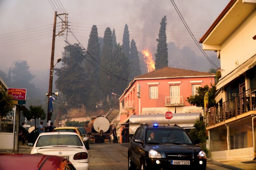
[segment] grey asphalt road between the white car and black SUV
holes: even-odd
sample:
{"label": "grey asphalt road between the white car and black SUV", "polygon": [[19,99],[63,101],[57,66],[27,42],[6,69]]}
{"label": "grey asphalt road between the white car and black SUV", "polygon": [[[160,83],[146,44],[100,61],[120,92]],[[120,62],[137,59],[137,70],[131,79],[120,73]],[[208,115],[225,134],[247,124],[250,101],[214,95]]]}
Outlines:
{"label": "grey asphalt road between the white car and black SUV", "polygon": [[[90,144],[90,170],[128,170],[128,143]],[[207,170],[228,170],[207,164]]]}

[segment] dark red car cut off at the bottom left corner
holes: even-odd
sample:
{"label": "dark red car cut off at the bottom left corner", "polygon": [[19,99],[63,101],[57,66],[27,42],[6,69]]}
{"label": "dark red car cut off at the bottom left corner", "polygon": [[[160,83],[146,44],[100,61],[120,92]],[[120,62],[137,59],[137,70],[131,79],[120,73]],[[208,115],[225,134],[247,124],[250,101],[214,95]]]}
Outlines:
{"label": "dark red car cut off at the bottom left corner", "polygon": [[62,156],[43,154],[0,154],[1,170],[75,170]]}

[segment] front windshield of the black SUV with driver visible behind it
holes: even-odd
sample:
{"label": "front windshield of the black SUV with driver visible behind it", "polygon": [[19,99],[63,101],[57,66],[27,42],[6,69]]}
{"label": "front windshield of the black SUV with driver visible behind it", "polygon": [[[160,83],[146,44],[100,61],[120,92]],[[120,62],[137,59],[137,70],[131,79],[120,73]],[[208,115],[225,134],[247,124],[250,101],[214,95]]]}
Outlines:
{"label": "front windshield of the black SUV with driver visible behind it", "polygon": [[148,129],[146,143],[192,144],[190,137],[181,129]]}

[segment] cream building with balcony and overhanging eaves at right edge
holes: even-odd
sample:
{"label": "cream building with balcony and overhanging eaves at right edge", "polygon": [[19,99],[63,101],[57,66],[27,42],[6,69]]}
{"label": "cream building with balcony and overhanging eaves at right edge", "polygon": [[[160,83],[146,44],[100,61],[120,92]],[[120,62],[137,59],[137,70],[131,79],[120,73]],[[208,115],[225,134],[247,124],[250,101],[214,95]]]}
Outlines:
{"label": "cream building with balcony and overhanging eaves at right edge", "polygon": [[206,129],[213,159],[255,157],[256,1],[231,0],[200,39],[220,59],[221,78]]}

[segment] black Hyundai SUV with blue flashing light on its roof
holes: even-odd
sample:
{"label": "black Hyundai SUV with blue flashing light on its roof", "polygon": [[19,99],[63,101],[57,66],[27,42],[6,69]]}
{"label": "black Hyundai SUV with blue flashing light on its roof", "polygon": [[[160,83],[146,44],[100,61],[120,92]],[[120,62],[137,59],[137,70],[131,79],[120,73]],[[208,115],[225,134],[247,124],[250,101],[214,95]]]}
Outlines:
{"label": "black Hyundai SUV with blue flashing light on its roof", "polygon": [[128,169],[205,170],[206,154],[195,143],[178,125],[141,125],[129,143]]}

